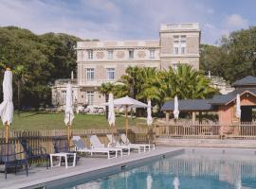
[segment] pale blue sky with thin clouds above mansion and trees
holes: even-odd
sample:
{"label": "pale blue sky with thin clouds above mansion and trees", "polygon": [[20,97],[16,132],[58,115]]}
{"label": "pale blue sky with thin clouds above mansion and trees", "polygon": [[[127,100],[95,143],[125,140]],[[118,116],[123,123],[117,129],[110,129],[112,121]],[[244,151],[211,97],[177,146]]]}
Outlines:
{"label": "pale blue sky with thin clouds above mansion and trees", "polygon": [[199,23],[201,43],[255,26],[256,0],[0,0],[0,26],[82,39],[157,40],[159,25]]}

